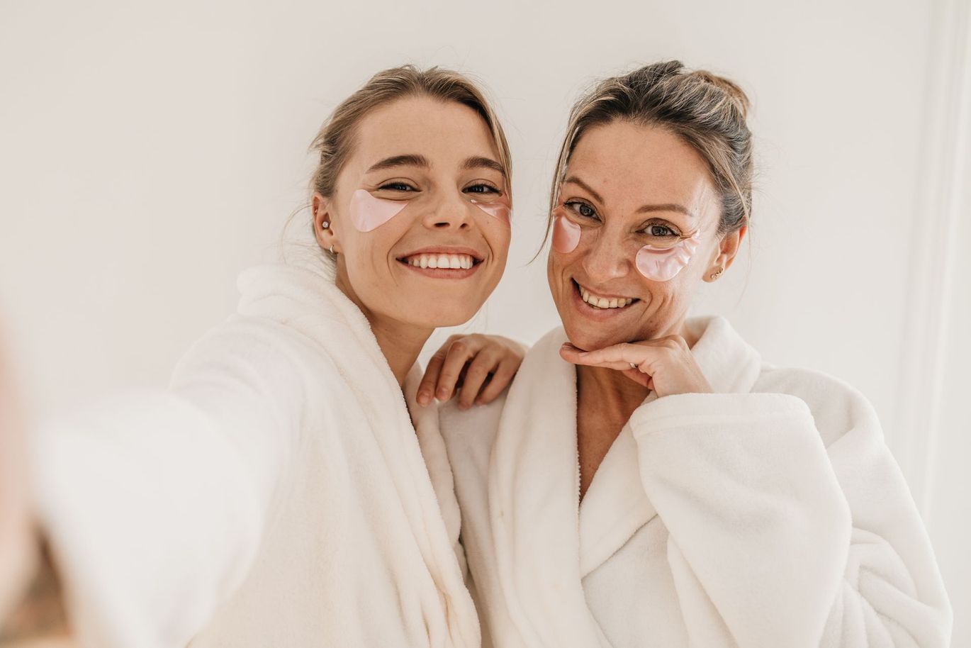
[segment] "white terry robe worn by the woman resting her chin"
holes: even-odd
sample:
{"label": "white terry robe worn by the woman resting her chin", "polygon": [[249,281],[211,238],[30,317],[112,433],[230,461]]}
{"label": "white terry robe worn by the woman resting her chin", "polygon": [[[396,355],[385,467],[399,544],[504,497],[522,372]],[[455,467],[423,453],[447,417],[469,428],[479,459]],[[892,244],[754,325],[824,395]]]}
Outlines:
{"label": "white terry robe worn by the woman resting her chin", "polygon": [[504,397],[440,411],[497,648],[948,645],[952,613],[870,404],[689,321],[715,393],[652,392],[579,503],[562,328]]}

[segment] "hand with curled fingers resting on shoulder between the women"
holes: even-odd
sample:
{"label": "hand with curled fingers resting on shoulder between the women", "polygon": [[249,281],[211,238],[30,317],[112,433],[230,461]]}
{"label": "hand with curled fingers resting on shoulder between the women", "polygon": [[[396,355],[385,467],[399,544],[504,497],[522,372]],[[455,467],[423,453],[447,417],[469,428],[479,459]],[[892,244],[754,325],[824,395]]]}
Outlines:
{"label": "hand with curled fingers resting on shoulder between the women", "polygon": [[526,349],[498,335],[452,335],[428,360],[418,392],[419,405],[432,397],[441,401],[458,394],[462,409],[492,402],[513,382]]}

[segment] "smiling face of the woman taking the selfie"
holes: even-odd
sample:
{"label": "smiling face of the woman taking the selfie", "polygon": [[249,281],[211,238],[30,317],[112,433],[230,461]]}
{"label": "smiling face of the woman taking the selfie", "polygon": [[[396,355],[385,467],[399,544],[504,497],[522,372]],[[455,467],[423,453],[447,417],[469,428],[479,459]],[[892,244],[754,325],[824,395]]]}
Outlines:
{"label": "smiling face of the woman taking the selfie", "polygon": [[483,305],[509,251],[498,160],[485,121],[455,102],[407,97],[360,120],[334,194],[313,207],[337,285],[372,323],[462,324]]}

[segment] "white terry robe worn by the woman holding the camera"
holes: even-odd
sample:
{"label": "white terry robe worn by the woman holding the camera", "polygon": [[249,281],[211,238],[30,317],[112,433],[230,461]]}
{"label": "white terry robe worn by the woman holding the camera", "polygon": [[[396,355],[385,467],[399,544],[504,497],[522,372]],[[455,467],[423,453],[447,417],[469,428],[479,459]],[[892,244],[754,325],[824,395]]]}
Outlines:
{"label": "white terry robe worn by the woman holding the camera", "polygon": [[478,648],[437,412],[416,410],[419,439],[367,321],[321,270],[258,267],[239,288],[170,389],[36,439],[82,645]]}

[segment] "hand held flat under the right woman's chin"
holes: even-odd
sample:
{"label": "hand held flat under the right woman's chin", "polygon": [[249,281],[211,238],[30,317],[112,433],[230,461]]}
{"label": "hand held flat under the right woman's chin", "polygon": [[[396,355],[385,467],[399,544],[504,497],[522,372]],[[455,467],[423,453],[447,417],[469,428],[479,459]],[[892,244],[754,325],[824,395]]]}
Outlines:
{"label": "hand held flat under the right woman's chin", "polygon": [[656,340],[616,344],[596,351],[581,351],[569,342],[559,355],[568,362],[616,369],[658,396],[675,393],[711,393],[685,338],[668,335]]}

